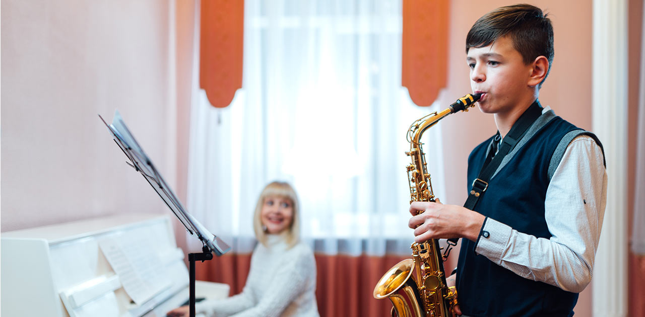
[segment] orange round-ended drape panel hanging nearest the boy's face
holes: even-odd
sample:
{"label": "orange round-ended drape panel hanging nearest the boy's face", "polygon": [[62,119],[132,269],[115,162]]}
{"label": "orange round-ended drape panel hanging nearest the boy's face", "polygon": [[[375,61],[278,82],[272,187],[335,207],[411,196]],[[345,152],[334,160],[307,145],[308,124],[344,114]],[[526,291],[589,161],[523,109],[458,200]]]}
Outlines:
{"label": "orange round-ended drape panel hanging nearest the boy's face", "polygon": [[419,106],[446,86],[448,9],[448,0],[403,0],[401,84]]}

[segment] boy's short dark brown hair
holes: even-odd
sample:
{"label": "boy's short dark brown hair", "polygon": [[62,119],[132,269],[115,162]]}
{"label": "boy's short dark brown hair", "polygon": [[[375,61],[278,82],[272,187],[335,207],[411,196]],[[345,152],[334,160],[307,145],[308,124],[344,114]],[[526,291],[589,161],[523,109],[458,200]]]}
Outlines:
{"label": "boy's short dark brown hair", "polygon": [[[532,5],[502,6],[480,17],[466,37],[466,53],[471,47],[481,48],[500,37],[510,36],[513,48],[520,52],[524,64],[544,56],[553,64],[553,26],[542,10]],[[546,76],[544,77],[546,79]],[[542,80],[544,82],[544,80]],[[540,86],[542,86],[540,82]]]}

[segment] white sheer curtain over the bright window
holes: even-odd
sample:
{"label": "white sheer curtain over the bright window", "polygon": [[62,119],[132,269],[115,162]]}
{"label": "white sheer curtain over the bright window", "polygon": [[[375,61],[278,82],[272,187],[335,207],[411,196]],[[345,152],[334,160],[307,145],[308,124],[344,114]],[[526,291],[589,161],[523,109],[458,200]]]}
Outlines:
{"label": "white sheer curtain over the bright window", "polygon": [[[257,196],[286,180],[315,251],[408,254],[406,131],[430,110],[401,88],[400,1],[247,0],[243,89],[224,109],[194,90],[188,211],[248,252]],[[443,197],[439,127],[424,142]]]}

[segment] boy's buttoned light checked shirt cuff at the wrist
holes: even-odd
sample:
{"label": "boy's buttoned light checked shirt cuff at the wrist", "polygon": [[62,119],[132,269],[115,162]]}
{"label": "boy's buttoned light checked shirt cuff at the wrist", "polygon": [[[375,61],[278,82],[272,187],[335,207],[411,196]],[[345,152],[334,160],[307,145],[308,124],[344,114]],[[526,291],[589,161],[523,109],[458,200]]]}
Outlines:
{"label": "boy's buttoned light checked shirt cuff at the wrist", "polygon": [[475,254],[486,256],[489,260],[500,264],[512,232],[513,228],[486,217],[475,242]]}

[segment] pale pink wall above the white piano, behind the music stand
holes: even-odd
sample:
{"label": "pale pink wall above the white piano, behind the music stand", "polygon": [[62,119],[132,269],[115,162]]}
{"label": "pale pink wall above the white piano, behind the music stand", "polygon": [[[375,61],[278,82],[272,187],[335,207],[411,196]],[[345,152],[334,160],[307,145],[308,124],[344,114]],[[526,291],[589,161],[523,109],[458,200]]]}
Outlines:
{"label": "pale pink wall above the white piano, behind the music stand", "polygon": [[2,1],[1,231],[167,212],[97,113],[121,111],[174,175],[168,15],[157,0]]}

